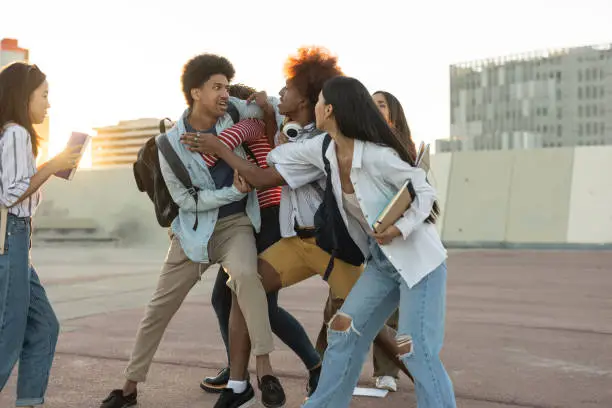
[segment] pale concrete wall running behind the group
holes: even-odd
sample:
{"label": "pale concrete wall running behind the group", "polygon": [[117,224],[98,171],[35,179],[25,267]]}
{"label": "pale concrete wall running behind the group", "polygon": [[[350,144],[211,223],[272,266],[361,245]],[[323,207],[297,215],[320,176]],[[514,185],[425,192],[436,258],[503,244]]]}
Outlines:
{"label": "pale concrete wall running behind the group", "polygon": [[[449,246],[612,245],[612,146],[438,154],[429,179]],[[79,170],[43,193],[39,220],[93,220],[126,244],[167,245],[131,168]]]}

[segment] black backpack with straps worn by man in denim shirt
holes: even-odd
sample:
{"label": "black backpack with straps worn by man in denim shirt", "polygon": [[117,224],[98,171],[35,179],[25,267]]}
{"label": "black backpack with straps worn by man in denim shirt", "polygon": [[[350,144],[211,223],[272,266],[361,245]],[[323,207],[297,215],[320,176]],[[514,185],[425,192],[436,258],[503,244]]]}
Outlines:
{"label": "black backpack with straps worn by man in denim shirt", "polygon": [[[227,113],[230,114],[234,123],[239,122],[238,110],[232,103],[228,105]],[[159,132],[161,133],[159,140],[156,141],[156,136],[151,137],[138,151],[138,156],[133,165],[134,179],[136,180],[138,190],[146,192],[149,199],[153,202],[158,224],[165,228],[169,227],[178,215],[178,205],[172,200],[159,167],[158,150],[161,151],[174,175],[183,183],[196,202],[196,221],[193,225],[193,229],[196,230],[198,228],[197,205],[199,188],[193,185],[189,172],[166,136],[166,119],[162,119],[159,122]],[[247,150],[247,153],[251,156],[253,155],[250,150]]]}

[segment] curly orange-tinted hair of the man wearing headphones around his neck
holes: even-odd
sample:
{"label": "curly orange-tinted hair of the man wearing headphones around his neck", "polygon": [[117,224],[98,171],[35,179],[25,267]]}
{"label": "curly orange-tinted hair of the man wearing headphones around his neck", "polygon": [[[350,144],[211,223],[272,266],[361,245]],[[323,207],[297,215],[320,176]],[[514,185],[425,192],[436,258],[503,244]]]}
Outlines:
{"label": "curly orange-tinted hair of the man wearing headphones around his neck", "polygon": [[285,62],[284,71],[287,81],[308,98],[313,109],[325,81],[344,75],[338,66],[338,58],[326,48],[317,46],[298,49],[297,54]]}

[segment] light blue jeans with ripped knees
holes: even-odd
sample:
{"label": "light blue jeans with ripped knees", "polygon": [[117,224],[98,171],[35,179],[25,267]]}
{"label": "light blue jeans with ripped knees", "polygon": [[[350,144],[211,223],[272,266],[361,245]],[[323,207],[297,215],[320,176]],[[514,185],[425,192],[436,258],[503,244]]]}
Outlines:
{"label": "light blue jeans with ripped knees", "polygon": [[328,330],[319,386],[303,407],[349,406],[370,345],[399,304],[397,337],[412,339],[411,351],[400,358],[414,377],[418,408],[456,408],[453,385],[439,356],[444,342],[446,263],[410,289],[377,244],[371,245],[371,251],[365,271],[338,312],[352,319],[351,327]]}

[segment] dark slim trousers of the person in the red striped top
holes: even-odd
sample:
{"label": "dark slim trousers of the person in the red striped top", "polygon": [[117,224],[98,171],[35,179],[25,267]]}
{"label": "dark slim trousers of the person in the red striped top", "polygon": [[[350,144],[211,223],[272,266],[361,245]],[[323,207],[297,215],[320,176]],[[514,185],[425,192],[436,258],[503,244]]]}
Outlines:
{"label": "dark slim trousers of the person in the red striped top", "polygon": [[[280,239],[278,206],[261,210],[261,231],[257,234],[257,252],[265,251]],[[211,303],[217,320],[221,338],[225,344],[229,361],[229,315],[232,307],[232,292],[227,287],[227,274],[221,268],[217,274],[211,295]],[[304,362],[307,369],[316,367],[321,357],[306,334],[304,327],[293,315],[278,306],[278,292],[268,293],[268,316],[272,332]]]}

